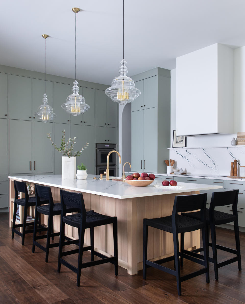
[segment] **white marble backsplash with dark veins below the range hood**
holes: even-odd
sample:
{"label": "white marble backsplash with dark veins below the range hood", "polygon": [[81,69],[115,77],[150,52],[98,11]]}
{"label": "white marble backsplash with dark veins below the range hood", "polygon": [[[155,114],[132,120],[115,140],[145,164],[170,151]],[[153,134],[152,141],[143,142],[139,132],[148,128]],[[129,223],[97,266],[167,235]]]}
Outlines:
{"label": "white marble backsplash with dark veins below the range hood", "polygon": [[182,168],[188,174],[230,175],[234,159],[239,167],[245,166],[245,147],[178,148],[170,149],[170,159],[175,160],[174,168]]}

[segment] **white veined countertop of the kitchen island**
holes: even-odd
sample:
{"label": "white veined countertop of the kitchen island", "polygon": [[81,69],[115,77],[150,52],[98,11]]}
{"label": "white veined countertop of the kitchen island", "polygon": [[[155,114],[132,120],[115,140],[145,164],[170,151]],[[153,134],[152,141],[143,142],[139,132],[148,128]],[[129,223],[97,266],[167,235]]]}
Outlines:
{"label": "white veined countertop of the kitchen island", "polygon": [[222,186],[181,182],[178,182],[178,185],[184,186],[184,188],[181,188],[179,190],[174,187],[173,190],[169,188],[164,189],[153,187],[153,185],[156,184],[161,185],[161,182],[158,181],[153,181],[153,183],[147,187],[134,187],[128,185],[127,183],[123,183],[122,181],[106,181],[105,179],[93,179],[95,176],[99,177],[98,175],[89,174],[86,179],[61,179],[61,175],[10,175],[9,178],[20,181],[33,182],[36,184],[47,185],[51,187],[65,188],[74,191],[103,195],[116,199],[129,199],[134,197],[222,188]]}

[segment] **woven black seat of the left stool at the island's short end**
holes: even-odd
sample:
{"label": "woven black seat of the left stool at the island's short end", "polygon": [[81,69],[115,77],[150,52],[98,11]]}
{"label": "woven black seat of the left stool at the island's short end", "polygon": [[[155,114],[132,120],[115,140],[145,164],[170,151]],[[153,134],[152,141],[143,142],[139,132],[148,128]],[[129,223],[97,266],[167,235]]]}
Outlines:
{"label": "woven black seat of the left stool at the island's short end", "polygon": [[[201,218],[201,216],[200,216]],[[192,219],[191,217],[177,215],[176,217],[178,232],[188,232],[198,230],[203,227],[201,219]],[[156,219],[147,219],[146,225],[173,233],[172,216],[164,216]]]}

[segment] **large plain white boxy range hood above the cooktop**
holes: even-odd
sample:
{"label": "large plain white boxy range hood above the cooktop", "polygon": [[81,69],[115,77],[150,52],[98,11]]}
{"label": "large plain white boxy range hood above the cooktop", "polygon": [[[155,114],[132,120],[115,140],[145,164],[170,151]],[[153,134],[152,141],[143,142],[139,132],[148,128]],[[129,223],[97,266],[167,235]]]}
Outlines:
{"label": "large plain white boxy range hood above the cooktop", "polygon": [[176,135],[234,133],[234,50],[216,43],[176,58]]}

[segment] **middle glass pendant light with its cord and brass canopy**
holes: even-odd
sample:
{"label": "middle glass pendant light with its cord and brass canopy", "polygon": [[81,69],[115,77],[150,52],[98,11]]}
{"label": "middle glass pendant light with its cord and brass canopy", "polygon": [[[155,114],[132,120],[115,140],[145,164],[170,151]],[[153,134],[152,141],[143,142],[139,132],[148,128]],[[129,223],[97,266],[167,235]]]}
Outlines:
{"label": "middle glass pendant light with its cord and brass canopy", "polygon": [[[80,11],[78,7],[73,7],[72,11],[75,13],[75,79],[77,78],[77,13]],[[75,80],[73,82],[74,86],[72,87],[73,94],[69,95],[66,98],[66,102],[61,105],[61,108],[64,109],[67,113],[72,114],[73,116],[78,116],[79,114],[84,113],[90,107],[85,103],[84,97],[79,95],[78,82]]]}

